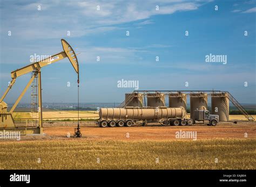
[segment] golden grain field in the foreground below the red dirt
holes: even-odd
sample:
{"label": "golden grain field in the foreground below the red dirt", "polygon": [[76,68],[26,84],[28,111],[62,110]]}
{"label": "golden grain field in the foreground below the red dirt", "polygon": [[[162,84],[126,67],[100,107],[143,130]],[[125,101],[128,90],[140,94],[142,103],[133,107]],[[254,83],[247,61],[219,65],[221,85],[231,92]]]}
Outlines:
{"label": "golden grain field in the foreground below the red dirt", "polygon": [[256,169],[255,139],[0,144],[0,169]]}

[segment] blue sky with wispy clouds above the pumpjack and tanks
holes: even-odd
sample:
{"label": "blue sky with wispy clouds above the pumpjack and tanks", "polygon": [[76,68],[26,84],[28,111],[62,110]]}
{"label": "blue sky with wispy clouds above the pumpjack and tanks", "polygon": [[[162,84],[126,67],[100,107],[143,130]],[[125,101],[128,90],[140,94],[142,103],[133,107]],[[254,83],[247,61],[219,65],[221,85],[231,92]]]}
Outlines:
{"label": "blue sky with wispy clouds above the pumpjack and tanks", "polygon": [[[64,38],[79,53],[81,102],[122,102],[134,90],[117,87],[124,79],[139,81],[139,90],[227,90],[241,103],[256,103],[256,1],[1,0],[0,10],[1,95],[12,70],[35,53],[62,51]],[[227,64],[206,63],[210,53],[227,55]],[[29,77],[17,78],[7,103]],[[43,102],[76,102],[76,77],[67,59],[44,67]],[[30,102],[29,91],[22,102]]]}

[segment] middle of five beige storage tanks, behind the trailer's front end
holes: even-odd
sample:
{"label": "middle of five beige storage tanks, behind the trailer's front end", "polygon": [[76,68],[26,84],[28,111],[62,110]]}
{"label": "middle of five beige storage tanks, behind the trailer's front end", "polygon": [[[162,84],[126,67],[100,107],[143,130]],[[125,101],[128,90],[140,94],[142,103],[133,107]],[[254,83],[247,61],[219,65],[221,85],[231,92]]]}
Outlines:
{"label": "middle of five beige storage tanks, behind the trailer's front end", "polygon": [[187,110],[187,97],[185,93],[169,93],[169,107],[183,107]]}

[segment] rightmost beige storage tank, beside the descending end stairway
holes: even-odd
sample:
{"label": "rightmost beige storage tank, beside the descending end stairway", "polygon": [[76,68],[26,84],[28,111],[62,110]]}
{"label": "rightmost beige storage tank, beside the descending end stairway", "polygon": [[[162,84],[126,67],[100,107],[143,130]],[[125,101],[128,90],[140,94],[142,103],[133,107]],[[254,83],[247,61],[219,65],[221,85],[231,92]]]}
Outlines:
{"label": "rightmost beige storage tank, beside the descending end stairway", "polygon": [[228,121],[230,114],[230,100],[228,93],[212,93],[212,114],[219,115],[219,121]]}

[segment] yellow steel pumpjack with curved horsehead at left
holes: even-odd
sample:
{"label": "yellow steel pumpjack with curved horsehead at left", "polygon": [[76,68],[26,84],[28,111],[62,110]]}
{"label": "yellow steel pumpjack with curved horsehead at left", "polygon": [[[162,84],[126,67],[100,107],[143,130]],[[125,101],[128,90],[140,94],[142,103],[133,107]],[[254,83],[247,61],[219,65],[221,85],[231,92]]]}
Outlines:
{"label": "yellow steel pumpjack with curved horsehead at left", "polygon": [[[43,133],[43,113],[42,113],[42,87],[41,87],[41,68],[44,66],[47,66],[51,63],[55,63],[59,60],[65,59],[65,57],[68,57],[70,60],[73,68],[76,70],[76,73],[78,75],[78,82],[79,82],[79,65],[78,60],[75,52],[73,51],[72,47],[66,42],[64,39],[62,41],[62,52],[52,55],[51,57],[48,57],[44,60],[41,60],[39,62],[32,63],[28,66],[25,66],[20,69],[16,69],[15,71],[11,72],[11,82],[8,85],[8,88],[4,92],[4,95],[0,99],[0,131],[20,131],[21,134],[42,134]],[[9,92],[9,90],[14,85],[16,78],[19,76],[22,76],[24,74],[33,72],[32,77],[30,78],[30,81],[22,91],[21,95],[16,100],[15,104],[12,106],[11,110],[7,111],[7,104],[3,102],[3,99]],[[14,123],[14,118],[12,117],[12,112],[14,112],[17,104],[22,99],[23,95],[25,94],[26,90],[28,90],[30,84],[33,82],[34,78],[38,76],[38,113],[39,113],[39,123],[36,127],[18,127]]]}

